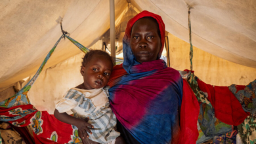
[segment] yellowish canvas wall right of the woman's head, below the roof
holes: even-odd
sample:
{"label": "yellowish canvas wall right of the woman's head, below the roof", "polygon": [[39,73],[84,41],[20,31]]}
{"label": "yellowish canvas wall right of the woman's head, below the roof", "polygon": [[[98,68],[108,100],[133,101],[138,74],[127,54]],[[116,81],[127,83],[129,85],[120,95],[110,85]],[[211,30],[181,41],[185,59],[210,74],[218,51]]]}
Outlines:
{"label": "yellowish canvas wall right of the woman's head, below the roof", "polygon": [[[189,43],[168,34],[171,67],[190,69]],[[194,46],[193,70],[203,82],[216,86],[246,85],[256,79],[256,69],[228,62]]]}

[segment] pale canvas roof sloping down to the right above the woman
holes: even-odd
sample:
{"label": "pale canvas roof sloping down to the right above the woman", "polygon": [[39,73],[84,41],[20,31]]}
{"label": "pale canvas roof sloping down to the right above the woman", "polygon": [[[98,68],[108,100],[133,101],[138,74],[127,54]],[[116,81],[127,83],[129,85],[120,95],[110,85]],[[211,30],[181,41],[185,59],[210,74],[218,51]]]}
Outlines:
{"label": "pale canvas roof sloping down to the right above the woman", "polygon": [[256,1],[131,0],[139,10],[160,14],[166,30],[188,40],[191,9],[194,46],[219,58],[256,68]]}

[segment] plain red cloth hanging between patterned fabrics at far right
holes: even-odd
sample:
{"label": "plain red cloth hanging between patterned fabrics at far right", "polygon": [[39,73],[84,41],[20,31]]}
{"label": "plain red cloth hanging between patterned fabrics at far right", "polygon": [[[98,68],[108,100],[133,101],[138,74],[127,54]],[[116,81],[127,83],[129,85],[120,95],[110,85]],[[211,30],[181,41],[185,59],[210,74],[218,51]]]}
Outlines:
{"label": "plain red cloth hanging between patterned fabrics at far right", "polygon": [[244,122],[248,113],[245,113],[242,105],[227,86],[211,86],[200,79],[198,79],[198,86],[200,90],[207,92],[207,99],[215,109],[215,117],[221,122],[234,126]]}

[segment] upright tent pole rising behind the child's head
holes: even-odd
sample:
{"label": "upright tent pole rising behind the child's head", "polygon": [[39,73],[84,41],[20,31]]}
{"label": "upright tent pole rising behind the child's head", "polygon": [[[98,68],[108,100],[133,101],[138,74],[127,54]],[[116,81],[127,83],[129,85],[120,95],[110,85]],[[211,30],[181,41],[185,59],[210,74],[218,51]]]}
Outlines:
{"label": "upright tent pole rising behind the child's head", "polygon": [[110,46],[111,56],[116,58],[115,0],[110,0]]}

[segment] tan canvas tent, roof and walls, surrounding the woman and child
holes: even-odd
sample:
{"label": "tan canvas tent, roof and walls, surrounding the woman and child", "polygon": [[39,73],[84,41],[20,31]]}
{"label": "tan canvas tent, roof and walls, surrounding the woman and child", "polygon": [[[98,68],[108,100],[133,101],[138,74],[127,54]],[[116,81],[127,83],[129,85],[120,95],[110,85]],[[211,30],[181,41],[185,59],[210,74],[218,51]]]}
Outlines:
{"label": "tan canvas tent, roof and walls, surrounding the woman and child", "polygon": [[[195,74],[209,84],[220,86],[253,81],[256,78],[256,1],[116,0],[116,27],[127,20],[123,17],[129,9],[159,14],[169,40],[170,66],[189,69],[188,5],[192,7]],[[101,49],[110,29],[110,7],[106,0],[4,0],[0,7],[1,101],[11,97],[15,88],[20,89],[35,74],[62,35],[56,22],[60,17],[70,37],[87,48]],[[82,82],[79,74],[82,56],[81,50],[70,41],[60,41],[28,94],[37,109],[53,113],[54,103],[64,92]]]}

